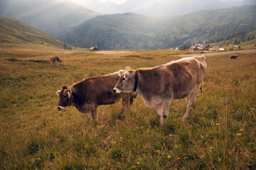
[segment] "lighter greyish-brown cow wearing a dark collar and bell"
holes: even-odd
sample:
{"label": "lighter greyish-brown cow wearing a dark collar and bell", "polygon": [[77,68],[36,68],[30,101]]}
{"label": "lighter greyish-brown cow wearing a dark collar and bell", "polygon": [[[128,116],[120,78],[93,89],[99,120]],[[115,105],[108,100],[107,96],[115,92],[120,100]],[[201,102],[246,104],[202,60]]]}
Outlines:
{"label": "lighter greyish-brown cow wearing a dark collar and bell", "polygon": [[206,74],[206,57],[195,56],[162,64],[151,69],[119,70],[116,93],[136,91],[146,106],[156,110],[163,127],[169,115],[171,101],[186,98],[187,109],[183,121],[188,118]]}

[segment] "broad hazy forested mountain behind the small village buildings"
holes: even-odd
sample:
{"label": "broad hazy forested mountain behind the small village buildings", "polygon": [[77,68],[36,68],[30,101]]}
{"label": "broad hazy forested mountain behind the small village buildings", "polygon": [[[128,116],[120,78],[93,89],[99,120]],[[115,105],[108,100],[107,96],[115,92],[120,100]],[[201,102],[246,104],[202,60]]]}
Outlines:
{"label": "broad hazy forested mountain behind the small village buildings", "polygon": [[234,38],[256,29],[256,6],[198,11],[172,16],[135,13],[92,18],[58,35],[79,47],[156,50],[198,41]]}

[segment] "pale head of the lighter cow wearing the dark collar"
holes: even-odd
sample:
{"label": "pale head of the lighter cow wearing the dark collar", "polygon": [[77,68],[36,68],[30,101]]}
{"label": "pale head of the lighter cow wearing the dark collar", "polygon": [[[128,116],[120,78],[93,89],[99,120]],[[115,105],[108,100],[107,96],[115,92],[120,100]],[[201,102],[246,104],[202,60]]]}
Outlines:
{"label": "pale head of the lighter cow wearing the dark collar", "polygon": [[117,94],[121,92],[132,93],[134,91],[135,72],[130,67],[125,67],[124,70],[120,69],[118,74],[119,79],[114,86],[114,92]]}

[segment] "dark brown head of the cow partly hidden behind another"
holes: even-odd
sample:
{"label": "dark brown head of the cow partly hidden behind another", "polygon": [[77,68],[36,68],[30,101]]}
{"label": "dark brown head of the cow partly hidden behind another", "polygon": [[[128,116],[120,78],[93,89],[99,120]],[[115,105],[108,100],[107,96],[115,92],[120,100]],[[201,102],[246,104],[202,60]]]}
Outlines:
{"label": "dark brown head of the cow partly hidden behind another", "polygon": [[56,92],[57,96],[60,96],[58,103],[58,111],[63,110],[65,107],[70,106],[73,102],[73,91],[67,86],[63,86],[63,89]]}

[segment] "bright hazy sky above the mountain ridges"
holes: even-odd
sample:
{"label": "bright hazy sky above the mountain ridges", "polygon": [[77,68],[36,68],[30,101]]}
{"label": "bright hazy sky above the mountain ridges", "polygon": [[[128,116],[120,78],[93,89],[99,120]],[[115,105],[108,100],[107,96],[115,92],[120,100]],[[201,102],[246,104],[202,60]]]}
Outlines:
{"label": "bright hazy sky above the mountain ridges", "polygon": [[140,13],[166,15],[216,8],[228,8],[244,4],[256,4],[256,0],[71,0],[92,11],[113,13]]}

